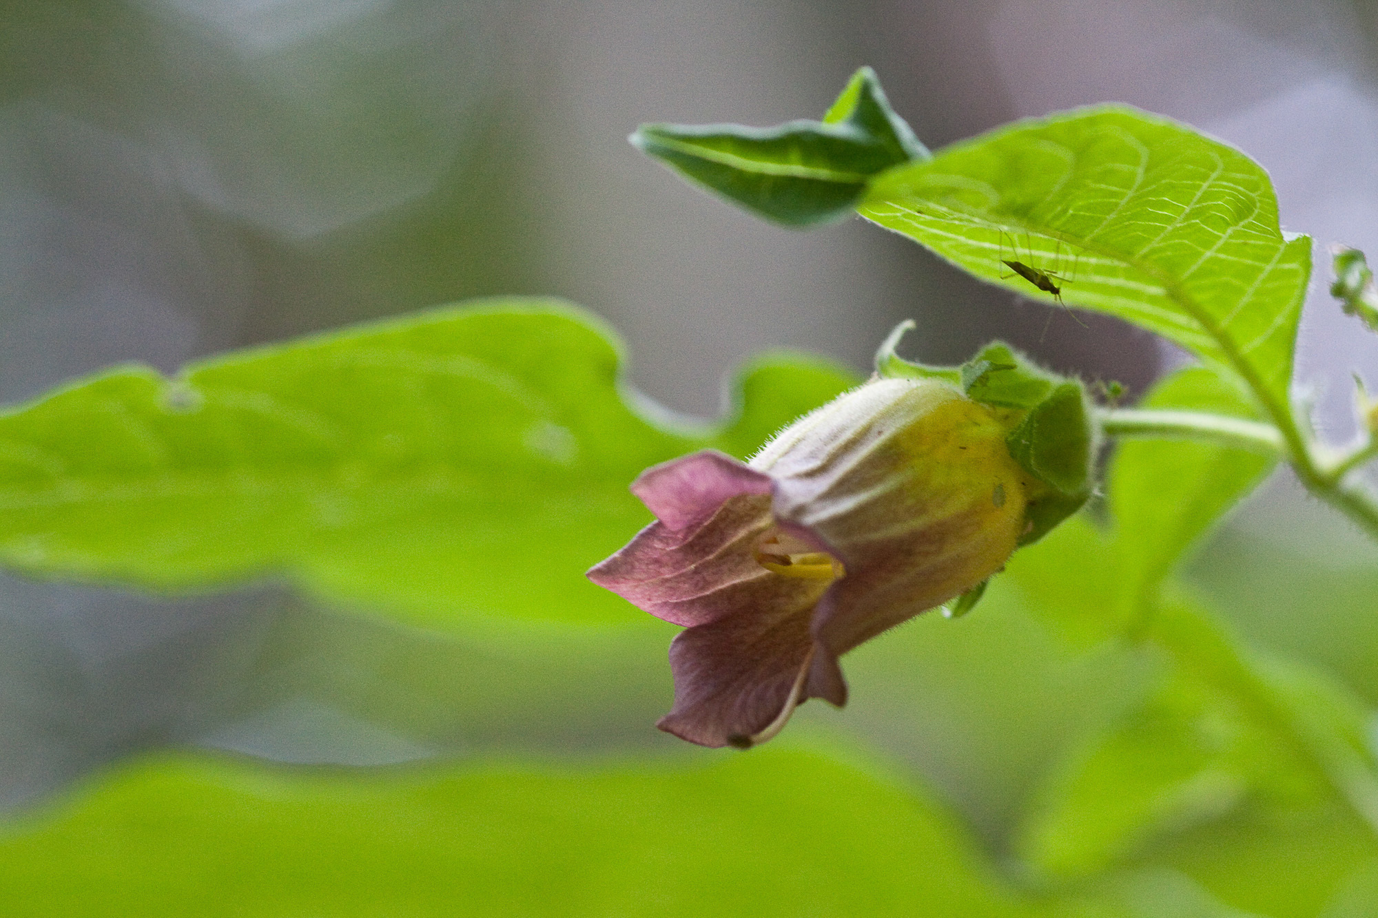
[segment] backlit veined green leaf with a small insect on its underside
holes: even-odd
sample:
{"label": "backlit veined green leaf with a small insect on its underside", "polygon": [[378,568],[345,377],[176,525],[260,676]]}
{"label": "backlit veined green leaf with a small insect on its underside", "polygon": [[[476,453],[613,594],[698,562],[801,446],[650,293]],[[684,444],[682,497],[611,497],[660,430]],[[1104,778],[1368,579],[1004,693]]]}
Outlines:
{"label": "backlit veined green leaf with a small insect on its underside", "polygon": [[1119,316],[1287,404],[1310,241],[1286,238],[1264,170],[1124,106],[1020,121],[885,172],[860,214],[995,284]]}

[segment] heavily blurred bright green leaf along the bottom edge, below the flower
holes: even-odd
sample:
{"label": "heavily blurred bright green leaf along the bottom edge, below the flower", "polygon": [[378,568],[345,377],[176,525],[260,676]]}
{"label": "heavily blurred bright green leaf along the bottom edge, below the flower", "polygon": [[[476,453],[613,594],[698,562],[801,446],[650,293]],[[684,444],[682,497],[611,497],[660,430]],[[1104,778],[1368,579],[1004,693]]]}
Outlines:
{"label": "heavily blurred bright green leaf along the bottom edge, below the flower", "polygon": [[25,915],[1024,915],[909,788],[710,768],[322,775],[143,762],[0,834]]}

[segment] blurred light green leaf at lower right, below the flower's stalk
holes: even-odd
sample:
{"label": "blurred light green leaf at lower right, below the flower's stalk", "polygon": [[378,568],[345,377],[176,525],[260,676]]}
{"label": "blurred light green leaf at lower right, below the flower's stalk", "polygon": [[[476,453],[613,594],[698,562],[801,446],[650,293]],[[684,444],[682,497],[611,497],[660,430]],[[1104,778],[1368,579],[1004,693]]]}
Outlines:
{"label": "blurred light green leaf at lower right, below the flower's stalk", "polygon": [[1378,826],[1364,713],[1338,685],[1247,652],[1185,600],[1159,611],[1151,637],[1169,651],[1158,689],[1050,775],[1021,831],[1031,864],[1087,877],[1156,863],[1174,837],[1240,804],[1344,801]]}

